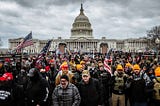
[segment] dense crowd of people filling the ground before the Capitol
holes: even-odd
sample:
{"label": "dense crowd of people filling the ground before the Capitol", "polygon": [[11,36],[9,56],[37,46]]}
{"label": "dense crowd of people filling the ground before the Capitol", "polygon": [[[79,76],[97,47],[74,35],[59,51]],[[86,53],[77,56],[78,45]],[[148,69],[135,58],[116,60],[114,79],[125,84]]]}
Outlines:
{"label": "dense crowd of people filling the ground before the Capitol", "polygon": [[3,58],[0,106],[160,106],[160,61],[123,52]]}

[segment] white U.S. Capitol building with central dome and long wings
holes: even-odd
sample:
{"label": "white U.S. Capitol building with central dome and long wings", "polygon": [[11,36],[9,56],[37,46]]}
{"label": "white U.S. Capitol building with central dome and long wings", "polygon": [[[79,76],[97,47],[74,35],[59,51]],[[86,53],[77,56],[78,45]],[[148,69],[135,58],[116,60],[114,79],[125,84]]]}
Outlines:
{"label": "white U.S. Capitol building with central dome and long wings", "polygon": [[[137,52],[139,50],[143,51],[147,47],[147,41],[143,38],[117,40],[102,37],[101,39],[94,39],[92,32],[93,29],[91,23],[88,17],[84,14],[83,5],[81,4],[80,13],[72,24],[70,38],[53,38],[50,50],[54,51],[58,49],[61,53],[64,53],[66,49],[71,52],[106,53],[110,48]],[[9,39],[9,48],[14,49],[21,40],[22,38]],[[34,45],[25,47],[23,51],[27,53],[39,53],[47,43],[47,40],[33,39],[33,42]]]}

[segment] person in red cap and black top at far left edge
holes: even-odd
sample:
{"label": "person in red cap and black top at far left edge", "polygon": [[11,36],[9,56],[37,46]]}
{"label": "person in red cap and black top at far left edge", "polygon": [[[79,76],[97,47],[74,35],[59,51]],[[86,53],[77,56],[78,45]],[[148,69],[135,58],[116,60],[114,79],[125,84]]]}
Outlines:
{"label": "person in red cap and black top at far left edge", "polygon": [[24,106],[24,91],[13,81],[12,73],[0,77],[0,106]]}

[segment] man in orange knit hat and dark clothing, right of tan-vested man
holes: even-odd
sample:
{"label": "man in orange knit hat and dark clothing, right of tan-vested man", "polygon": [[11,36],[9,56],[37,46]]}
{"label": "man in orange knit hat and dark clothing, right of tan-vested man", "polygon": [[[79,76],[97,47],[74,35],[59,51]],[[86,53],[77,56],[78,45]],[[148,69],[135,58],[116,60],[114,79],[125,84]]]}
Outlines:
{"label": "man in orange knit hat and dark clothing, right of tan-vested man", "polygon": [[131,80],[131,103],[133,106],[147,106],[146,87],[151,80],[148,75],[141,71],[138,64],[133,66],[133,75]]}

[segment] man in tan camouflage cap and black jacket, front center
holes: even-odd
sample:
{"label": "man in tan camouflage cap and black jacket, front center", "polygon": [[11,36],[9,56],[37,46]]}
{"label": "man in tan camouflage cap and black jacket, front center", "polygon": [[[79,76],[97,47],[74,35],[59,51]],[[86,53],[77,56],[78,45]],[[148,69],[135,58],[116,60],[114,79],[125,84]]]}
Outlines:
{"label": "man in tan camouflage cap and black jacket, front center", "polygon": [[91,78],[88,70],[83,70],[78,89],[81,96],[80,106],[102,105],[102,86],[97,79]]}

